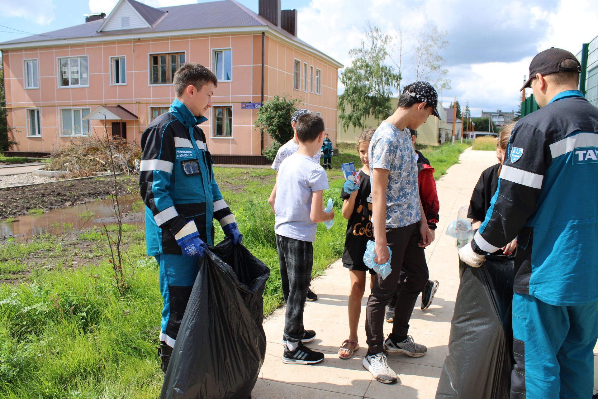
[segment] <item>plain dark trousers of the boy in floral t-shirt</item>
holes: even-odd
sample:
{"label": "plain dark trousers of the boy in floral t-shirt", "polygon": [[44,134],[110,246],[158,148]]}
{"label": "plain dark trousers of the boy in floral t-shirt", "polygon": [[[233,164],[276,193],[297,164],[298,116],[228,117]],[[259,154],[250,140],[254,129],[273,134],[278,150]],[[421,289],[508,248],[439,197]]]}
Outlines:
{"label": "plain dark trousers of the boy in floral t-shirt", "polygon": [[374,287],[365,310],[365,333],[371,354],[377,354],[384,350],[385,308],[396,291],[401,270],[404,270],[407,278],[402,284],[396,301],[392,333],[396,336],[406,336],[409,331],[409,319],[413,313],[413,306],[415,306],[417,296],[428,282],[426,256],[423,248],[418,245],[421,239],[418,223],[386,229],[386,242],[392,251],[390,257],[392,272],[386,279],[382,279],[379,274],[376,275],[376,281],[374,281]]}

